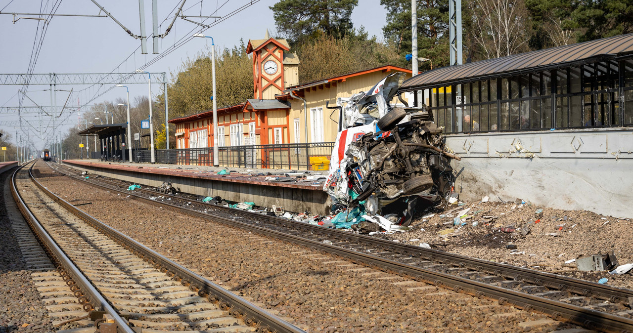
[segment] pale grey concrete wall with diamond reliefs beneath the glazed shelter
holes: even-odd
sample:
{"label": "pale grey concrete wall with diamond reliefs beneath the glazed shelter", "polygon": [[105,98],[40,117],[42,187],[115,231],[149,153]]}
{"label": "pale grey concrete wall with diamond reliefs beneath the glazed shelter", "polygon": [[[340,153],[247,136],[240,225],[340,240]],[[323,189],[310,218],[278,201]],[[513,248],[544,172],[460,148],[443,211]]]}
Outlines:
{"label": "pale grey concrete wall with diamond reliefs beneath the glazed shelter", "polygon": [[522,198],[556,209],[633,217],[633,130],[447,135],[466,200]]}

